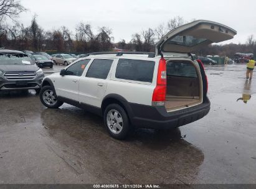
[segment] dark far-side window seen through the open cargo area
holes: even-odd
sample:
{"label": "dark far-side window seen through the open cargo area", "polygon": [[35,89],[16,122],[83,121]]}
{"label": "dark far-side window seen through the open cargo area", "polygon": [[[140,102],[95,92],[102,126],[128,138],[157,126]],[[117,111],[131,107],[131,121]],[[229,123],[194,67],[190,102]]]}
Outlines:
{"label": "dark far-side window seen through the open cargo area", "polygon": [[166,64],[166,73],[167,76],[198,77],[196,68],[189,62],[168,62]]}

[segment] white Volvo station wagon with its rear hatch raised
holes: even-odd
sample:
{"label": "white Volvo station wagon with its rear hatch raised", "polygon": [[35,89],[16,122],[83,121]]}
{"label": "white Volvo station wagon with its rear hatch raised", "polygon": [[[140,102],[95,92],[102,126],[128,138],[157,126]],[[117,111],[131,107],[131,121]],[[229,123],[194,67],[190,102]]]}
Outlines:
{"label": "white Volvo station wagon with its rear hatch raised", "polygon": [[189,124],[210,110],[204,66],[191,52],[235,34],[216,22],[194,21],[164,35],[155,53],[90,53],[46,76],[40,101],[48,108],[68,103],[102,116],[116,139],[125,139],[133,127]]}

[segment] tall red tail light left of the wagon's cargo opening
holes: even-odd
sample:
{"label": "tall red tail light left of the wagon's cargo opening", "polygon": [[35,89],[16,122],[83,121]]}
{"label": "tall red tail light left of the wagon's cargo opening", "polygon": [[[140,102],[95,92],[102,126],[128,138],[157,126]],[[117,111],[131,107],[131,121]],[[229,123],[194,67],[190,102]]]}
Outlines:
{"label": "tall red tail light left of the wagon's cargo opening", "polygon": [[152,96],[153,106],[164,106],[166,98],[166,60],[161,58],[158,65],[158,78]]}

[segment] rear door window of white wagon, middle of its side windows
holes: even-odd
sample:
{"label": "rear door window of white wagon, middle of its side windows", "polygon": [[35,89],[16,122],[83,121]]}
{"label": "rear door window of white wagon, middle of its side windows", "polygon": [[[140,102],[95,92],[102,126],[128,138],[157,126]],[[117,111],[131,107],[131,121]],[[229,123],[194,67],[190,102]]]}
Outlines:
{"label": "rear door window of white wagon, middle of its side windows", "polygon": [[110,71],[113,60],[110,59],[94,59],[86,76],[88,78],[98,78],[105,80]]}

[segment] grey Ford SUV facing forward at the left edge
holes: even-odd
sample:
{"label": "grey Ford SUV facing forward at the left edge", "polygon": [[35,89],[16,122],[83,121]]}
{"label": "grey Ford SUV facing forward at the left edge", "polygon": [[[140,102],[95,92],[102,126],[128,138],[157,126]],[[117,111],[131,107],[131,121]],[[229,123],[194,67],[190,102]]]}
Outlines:
{"label": "grey Ford SUV facing forward at the left edge", "polygon": [[0,91],[36,90],[39,93],[44,73],[27,53],[0,50]]}

